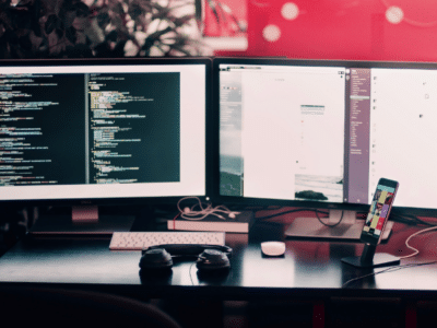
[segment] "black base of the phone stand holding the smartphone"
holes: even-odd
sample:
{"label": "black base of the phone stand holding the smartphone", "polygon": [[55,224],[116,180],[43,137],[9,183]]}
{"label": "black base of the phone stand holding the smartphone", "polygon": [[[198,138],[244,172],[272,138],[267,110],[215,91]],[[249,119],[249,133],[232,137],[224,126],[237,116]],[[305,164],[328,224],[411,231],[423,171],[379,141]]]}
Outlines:
{"label": "black base of the phone stand holding the smartphone", "polygon": [[387,253],[375,254],[376,245],[366,244],[362,256],[351,256],[342,258],[342,262],[356,268],[378,268],[388,266],[398,266],[401,262],[399,257]]}

